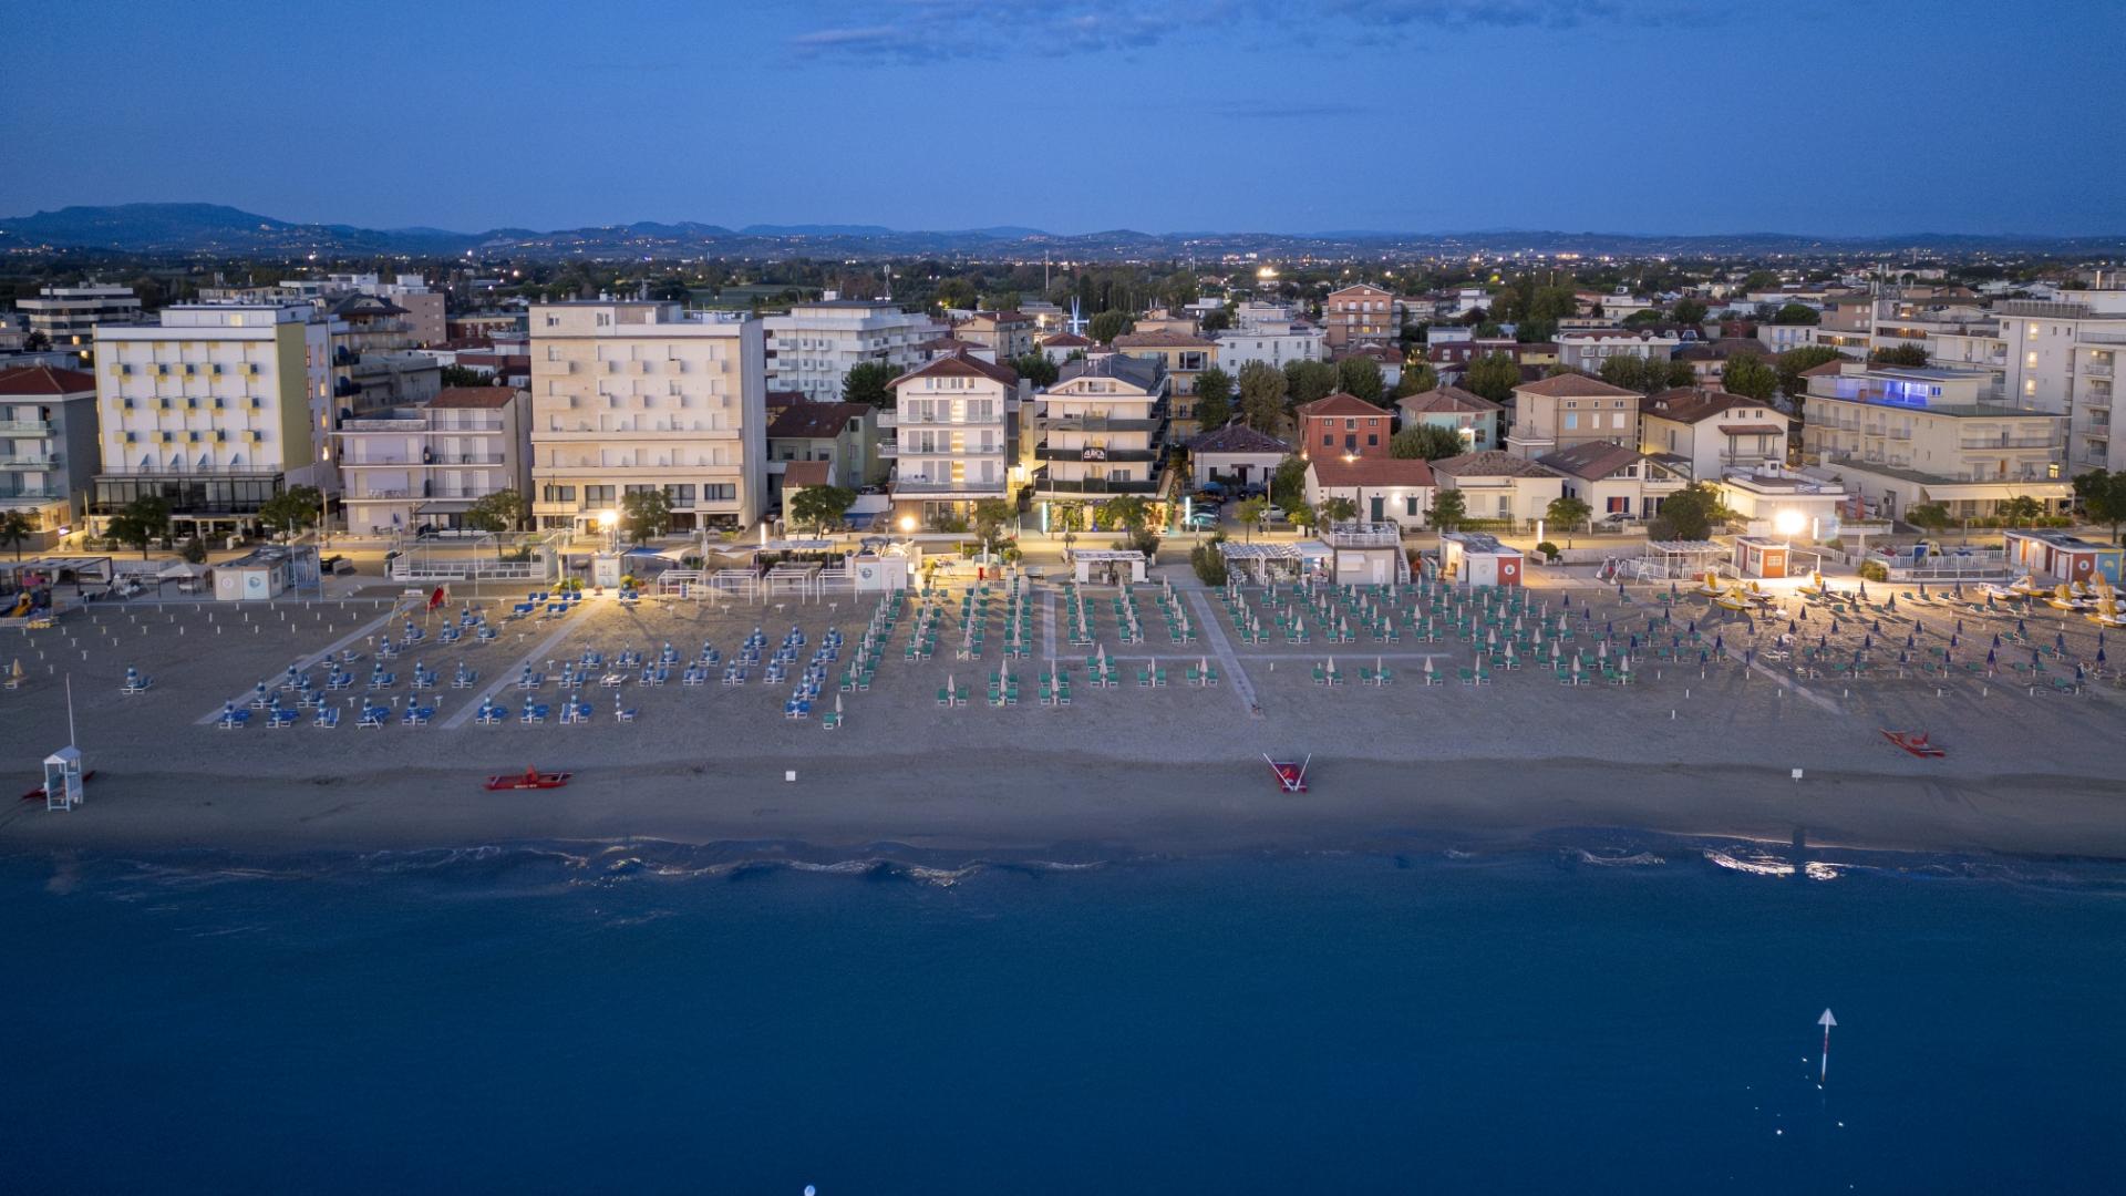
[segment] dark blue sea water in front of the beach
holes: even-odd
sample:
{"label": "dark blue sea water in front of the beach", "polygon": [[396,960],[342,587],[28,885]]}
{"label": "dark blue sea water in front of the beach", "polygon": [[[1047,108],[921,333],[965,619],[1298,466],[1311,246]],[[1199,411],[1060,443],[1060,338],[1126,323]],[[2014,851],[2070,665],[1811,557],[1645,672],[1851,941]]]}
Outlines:
{"label": "dark blue sea water in front of the beach", "polygon": [[0,1190],[2120,1190],[2107,866],[742,856],[0,860]]}

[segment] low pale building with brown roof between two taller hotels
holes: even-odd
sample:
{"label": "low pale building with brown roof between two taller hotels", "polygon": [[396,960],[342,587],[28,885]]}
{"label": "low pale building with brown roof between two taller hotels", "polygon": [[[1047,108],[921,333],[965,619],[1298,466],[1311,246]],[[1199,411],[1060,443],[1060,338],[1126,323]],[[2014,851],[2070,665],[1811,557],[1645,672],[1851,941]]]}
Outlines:
{"label": "low pale building with brown roof between two taller hotels", "polygon": [[449,387],[419,406],[340,419],[347,532],[387,536],[459,528],[502,489],[532,500],[532,396]]}

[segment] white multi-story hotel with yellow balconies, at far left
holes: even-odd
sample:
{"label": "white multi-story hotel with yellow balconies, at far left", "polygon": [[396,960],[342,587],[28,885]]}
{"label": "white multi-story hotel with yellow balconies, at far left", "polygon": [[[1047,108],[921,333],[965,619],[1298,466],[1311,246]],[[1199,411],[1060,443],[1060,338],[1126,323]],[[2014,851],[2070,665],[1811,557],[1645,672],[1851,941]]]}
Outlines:
{"label": "white multi-story hotel with yellow balconies, at far left", "polygon": [[91,521],[142,494],[208,536],[289,485],[338,489],[332,326],[306,302],[181,304],[96,328],[102,468]]}

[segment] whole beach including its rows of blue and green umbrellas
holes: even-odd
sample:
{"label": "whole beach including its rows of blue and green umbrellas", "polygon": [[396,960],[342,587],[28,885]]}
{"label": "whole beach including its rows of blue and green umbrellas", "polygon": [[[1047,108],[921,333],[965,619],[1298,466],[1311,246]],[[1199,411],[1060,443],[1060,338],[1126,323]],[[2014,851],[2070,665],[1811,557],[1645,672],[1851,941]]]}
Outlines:
{"label": "whole beach including its rows of blue and green umbrellas", "polygon": [[[215,843],[255,809],[319,841],[393,821],[487,836],[1265,830],[1259,807],[1280,798],[1263,751],[1316,755],[1303,811],[1410,824],[1461,807],[1499,826],[1609,824],[1658,798],[1669,821],[1784,838],[1750,819],[1794,800],[1767,783],[1790,768],[1916,794],[1998,790],[2003,775],[2115,787],[2126,690],[2090,621],[1839,589],[1779,587],[1748,613],[1690,585],[1205,589],[1186,575],[821,602],[106,604],[0,649],[23,664],[0,698],[23,787],[66,741],[62,677],[98,768],[83,809],[30,819],[23,802],[0,841],[134,826]],[[123,694],[128,668],[153,683]],[[232,711],[242,726],[223,730]],[[1884,728],[1926,730],[1952,755],[1909,758]],[[578,777],[536,798],[478,792],[525,764]]]}

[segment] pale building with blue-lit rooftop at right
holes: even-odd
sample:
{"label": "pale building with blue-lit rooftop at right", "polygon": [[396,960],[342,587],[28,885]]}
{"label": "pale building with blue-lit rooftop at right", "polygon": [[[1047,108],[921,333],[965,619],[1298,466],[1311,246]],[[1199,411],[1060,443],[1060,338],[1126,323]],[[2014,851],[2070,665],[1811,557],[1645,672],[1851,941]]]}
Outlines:
{"label": "pale building with blue-lit rooftop at right", "polygon": [[1941,502],[1956,517],[1992,515],[2009,498],[2064,504],[2066,417],[1979,402],[1977,370],[1845,362],[1809,379],[1803,445],[1877,515]]}

